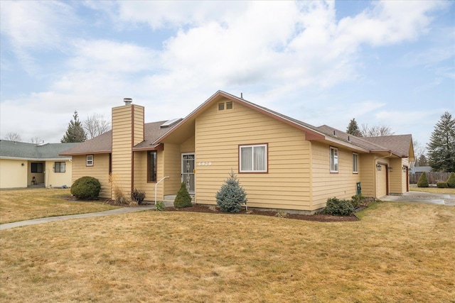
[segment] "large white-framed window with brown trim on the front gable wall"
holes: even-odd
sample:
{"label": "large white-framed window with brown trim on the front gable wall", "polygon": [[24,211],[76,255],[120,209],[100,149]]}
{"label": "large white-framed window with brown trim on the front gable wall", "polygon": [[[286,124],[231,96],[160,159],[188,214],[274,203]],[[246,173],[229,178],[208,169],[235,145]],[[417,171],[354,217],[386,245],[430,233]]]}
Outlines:
{"label": "large white-framed window with brown trim on the front gable wall", "polygon": [[267,172],[267,144],[240,146],[240,172]]}

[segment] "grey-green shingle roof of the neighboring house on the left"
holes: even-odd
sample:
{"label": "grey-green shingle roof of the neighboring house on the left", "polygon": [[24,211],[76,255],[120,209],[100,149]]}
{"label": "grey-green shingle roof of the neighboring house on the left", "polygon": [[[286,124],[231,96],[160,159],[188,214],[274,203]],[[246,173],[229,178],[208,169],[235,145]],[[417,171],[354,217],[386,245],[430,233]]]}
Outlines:
{"label": "grey-green shingle roof of the neighboring house on the left", "polygon": [[54,160],[68,159],[59,153],[79,143],[25,143],[0,140],[1,159]]}

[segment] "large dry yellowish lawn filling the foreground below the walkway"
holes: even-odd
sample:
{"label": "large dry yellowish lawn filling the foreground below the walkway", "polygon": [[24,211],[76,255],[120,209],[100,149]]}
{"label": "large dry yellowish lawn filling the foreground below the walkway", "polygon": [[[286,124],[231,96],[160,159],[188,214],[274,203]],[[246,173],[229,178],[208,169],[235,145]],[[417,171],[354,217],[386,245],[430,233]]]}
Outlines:
{"label": "large dry yellowish lawn filling the foreground below the walkway", "polygon": [[0,232],[1,302],[455,302],[455,207],[141,211]]}

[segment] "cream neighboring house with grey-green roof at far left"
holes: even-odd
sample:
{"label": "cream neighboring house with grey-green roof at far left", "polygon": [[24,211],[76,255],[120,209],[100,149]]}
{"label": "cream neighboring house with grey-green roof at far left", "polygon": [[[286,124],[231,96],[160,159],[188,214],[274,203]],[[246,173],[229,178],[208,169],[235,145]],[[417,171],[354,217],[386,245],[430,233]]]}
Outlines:
{"label": "cream neighboring house with grey-green roof at far left", "polygon": [[71,157],[58,153],[78,143],[0,141],[0,188],[70,187]]}

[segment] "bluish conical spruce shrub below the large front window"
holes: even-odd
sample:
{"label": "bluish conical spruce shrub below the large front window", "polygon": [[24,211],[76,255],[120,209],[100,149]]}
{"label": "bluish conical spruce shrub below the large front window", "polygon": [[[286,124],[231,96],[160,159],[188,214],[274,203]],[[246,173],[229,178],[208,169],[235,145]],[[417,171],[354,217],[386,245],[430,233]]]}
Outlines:
{"label": "bluish conical spruce shrub below the large front window", "polygon": [[228,212],[239,212],[242,204],[248,201],[245,189],[240,186],[239,180],[232,171],[215,197],[220,209]]}

